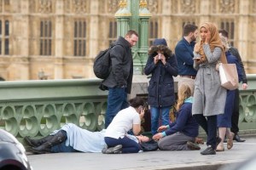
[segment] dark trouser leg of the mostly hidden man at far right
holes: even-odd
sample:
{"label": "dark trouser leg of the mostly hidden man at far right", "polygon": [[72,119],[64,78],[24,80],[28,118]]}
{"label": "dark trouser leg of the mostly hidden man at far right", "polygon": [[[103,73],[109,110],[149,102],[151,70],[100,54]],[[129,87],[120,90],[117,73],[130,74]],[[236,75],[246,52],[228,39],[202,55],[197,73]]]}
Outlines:
{"label": "dark trouser leg of the mostly hidden man at far right", "polygon": [[232,133],[238,133],[239,127],[238,127],[238,121],[239,121],[239,89],[235,90],[235,101],[234,101],[234,108],[233,113],[231,117],[231,132]]}

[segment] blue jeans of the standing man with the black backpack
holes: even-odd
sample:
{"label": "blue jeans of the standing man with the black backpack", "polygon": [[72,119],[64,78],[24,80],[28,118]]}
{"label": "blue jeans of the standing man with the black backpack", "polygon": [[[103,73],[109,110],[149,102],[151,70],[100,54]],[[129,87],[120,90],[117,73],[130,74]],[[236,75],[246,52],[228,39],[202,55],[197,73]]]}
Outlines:
{"label": "blue jeans of the standing man with the black backpack", "polygon": [[105,128],[112,122],[113,117],[129,106],[125,88],[108,88],[108,107],[105,115]]}

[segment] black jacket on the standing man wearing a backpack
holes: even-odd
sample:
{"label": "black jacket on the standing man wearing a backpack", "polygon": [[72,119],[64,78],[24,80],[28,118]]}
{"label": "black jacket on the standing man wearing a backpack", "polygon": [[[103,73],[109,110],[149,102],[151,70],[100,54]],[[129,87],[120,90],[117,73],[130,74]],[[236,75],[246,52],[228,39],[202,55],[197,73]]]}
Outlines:
{"label": "black jacket on the standing man wearing a backpack", "polygon": [[131,94],[133,75],[131,44],[124,37],[119,37],[113,45],[110,51],[112,71],[108,78],[102,81],[102,84],[108,88],[125,86],[127,94]]}

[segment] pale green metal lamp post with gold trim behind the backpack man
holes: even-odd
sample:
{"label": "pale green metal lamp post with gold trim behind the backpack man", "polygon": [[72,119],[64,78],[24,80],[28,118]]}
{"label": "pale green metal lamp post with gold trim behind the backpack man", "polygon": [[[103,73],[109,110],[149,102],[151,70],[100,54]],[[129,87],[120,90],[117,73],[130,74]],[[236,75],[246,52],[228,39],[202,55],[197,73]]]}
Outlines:
{"label": "pale green metal lamp post with gold trim behind the backpack man", "polygon": [[148,20],[151,17],[147,9],[146,0],[121,0],[119,10],[115,14],[117,19],[117,35],[125,36],[132,29],[139,33],[139,42],[132,48],[133,73],[143,74],[143,67],[148,58]]}

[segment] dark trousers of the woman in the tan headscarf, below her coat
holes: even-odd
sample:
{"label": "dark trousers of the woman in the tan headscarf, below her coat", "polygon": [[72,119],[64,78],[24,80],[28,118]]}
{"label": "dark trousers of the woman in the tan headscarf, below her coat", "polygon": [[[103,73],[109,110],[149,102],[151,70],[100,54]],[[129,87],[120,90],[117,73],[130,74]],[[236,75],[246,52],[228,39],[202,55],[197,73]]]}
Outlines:
{"label": "dark trousers of the woman in the tan headscarf, below her coat", "polygon": [[196,122],[207,133],[207,145],[211,145],[212,149],[216,149],[216,136],[217,136],[217,116],[203,116],[202,114],[193,115]]}

